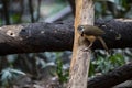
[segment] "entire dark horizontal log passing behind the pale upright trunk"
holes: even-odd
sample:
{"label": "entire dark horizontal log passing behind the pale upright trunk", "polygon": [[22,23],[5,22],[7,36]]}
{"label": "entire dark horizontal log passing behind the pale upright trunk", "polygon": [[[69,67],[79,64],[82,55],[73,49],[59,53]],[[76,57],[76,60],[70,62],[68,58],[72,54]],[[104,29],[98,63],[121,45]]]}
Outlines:
{"label": "entire dark horizontal log passing behind the pale upright trunk", "polygon": [[[109,48],[132,47],[132,20],[96,20],[95,24],[106,32],[102,38]],[[0,28],[0,55],[70,51],[73,43],[74,21],[4,25]],[[102,48],[102,45],[97,41],[92,47]]]}

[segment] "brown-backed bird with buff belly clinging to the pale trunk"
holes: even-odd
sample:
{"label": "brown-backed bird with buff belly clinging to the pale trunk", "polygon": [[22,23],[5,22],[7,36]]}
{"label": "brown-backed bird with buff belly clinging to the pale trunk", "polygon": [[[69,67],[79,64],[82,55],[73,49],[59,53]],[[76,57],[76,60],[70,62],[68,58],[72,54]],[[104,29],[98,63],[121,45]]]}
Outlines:
{"label": "brown-backed bird with buff belly clinging to the pale trunk", "polygon": [[90,44],[89,44],[88,48],[90,48],[92,46],[92,44],[96,40],[99,40],[101,42],[102,46],[108,52],[108,47],[107,47],[103,38],[101,37],[101,35],[105,34],[105,31],[102,31],[101,29],[94,26],[94,25],[79,25],[77,31],[82,37],[85,37],[89,41]]}

